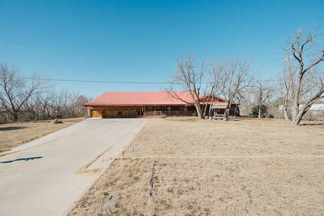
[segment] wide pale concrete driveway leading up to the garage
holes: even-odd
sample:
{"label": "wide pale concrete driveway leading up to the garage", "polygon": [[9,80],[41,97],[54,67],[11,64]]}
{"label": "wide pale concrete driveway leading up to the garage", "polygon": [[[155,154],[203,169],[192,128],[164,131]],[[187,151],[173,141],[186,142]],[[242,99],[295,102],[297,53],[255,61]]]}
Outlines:
{"label": "wide pale concrete driveway leading up to the garage", "polygon": [[146,121],[86,119],[0,157],[0,215],[66,215]]}

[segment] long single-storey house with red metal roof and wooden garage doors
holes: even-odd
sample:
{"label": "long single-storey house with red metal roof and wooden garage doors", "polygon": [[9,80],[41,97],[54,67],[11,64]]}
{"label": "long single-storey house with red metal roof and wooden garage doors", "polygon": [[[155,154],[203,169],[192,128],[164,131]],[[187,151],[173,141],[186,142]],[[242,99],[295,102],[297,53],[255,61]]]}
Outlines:
{"label": "long single-storey house with red metal roof and wooden garage doors", "polygon": [[[177,92],[184,100],[171,97],[167,92],[105,92],[90,102],[83,104],[86,107],[86,117],[101,118],[137,118],[155,115],[167,116],[196,116],[194,101],[189,92]],[[208,102],[208,109],[211,103]],[[206,98],[207,100],[207,98]],[[204,96],[199,98],[200,105],[206,105]],[[214,96],[214,103],[226,103],[223,98]],[[238,104],[230,107],[230,115],[236,116]],[[207,110],[208,112],[208,110]]]}

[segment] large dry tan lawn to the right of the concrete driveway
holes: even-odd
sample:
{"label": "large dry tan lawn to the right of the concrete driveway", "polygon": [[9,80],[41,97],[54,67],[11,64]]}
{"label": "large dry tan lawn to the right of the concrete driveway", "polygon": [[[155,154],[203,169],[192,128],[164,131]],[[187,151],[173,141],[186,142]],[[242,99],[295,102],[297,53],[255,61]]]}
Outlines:
{"label": "large dry tan lawn to the right of the concrete driveway", "polygon": [[149,119],[69,215],[324,215],[324,124]]}

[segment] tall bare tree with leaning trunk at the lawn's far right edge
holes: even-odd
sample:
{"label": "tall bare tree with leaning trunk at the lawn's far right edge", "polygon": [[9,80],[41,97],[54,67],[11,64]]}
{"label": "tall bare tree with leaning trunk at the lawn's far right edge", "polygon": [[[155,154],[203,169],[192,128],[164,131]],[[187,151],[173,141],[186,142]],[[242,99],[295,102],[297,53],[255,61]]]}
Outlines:
{"label": "tall bare tree with leaning trunk at the lawn's far right edge", "polygon": [[[320,44],[322,30],[313,33],[315,25],[307,32],[299,27],[290,35],[287,47],[287,63],[289,76],[285,77],[285,85],[289,84],[286,105],[292,105],[292,124],[299,125],[302,117],[317,100],[324,98],[324,73],[320,63],[324,61],[324,48]],[[292,59],[289,56],[292,55]],[[295,72],[296,71],[296,72]],[[304,105],[300,105],[304,103]]]}

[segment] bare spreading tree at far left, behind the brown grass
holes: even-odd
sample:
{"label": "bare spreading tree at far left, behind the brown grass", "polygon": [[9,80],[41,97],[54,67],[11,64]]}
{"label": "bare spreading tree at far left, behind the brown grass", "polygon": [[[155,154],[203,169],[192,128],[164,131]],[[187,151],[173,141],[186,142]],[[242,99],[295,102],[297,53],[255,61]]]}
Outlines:
{"label": "bare spreading tree at far left, behind the brown grass", "polygon": [[19,67],[0,64],[0,104],[7,110],[14,121],[26,101],[37,93],[37,90],[49,87],[48,81],[33,73],[28,78],[19,75]]}

